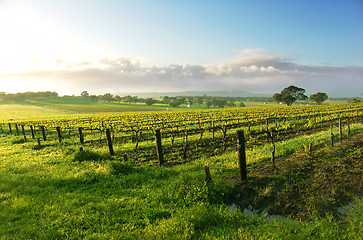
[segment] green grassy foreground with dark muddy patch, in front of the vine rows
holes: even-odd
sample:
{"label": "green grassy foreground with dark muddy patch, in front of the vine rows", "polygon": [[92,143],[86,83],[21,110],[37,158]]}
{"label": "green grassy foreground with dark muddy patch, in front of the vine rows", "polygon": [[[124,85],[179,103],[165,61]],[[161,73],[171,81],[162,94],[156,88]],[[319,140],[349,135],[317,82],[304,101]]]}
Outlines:
{"label": "green grassy foreground with dark muddy patch, in front of the vine rows", "polygon": [[[355,135],[335,147],[328,147],[326,131],[279,143],[284,148],[278,147],[277,168],[267,160],[268,145],[247,152],[249,180],[244,183],[237,178],[235,152],[183,165],[134,166],[56,142],[35,150],[34,142],[4,135],[0,236],[361,239],[362,124],[351,128]],[[313,152],[308,153],[304,146],[311,141]],[[249,216],[244,208],[264,211]]]}

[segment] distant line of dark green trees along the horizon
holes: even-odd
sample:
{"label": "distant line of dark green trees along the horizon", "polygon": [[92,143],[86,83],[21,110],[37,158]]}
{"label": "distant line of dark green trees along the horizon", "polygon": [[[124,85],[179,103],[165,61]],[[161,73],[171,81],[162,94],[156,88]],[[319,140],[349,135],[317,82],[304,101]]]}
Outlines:
{"label": "distant line of dark green trees along the horizon", "polygon": [[[39,98],[51,98],[59,97],[58,93],[45,91],[45,92],[24,92],[24,93],[5,93],[0,92],[0,102],[10,103],[10,102],[24,102],[27,100],[34,100]],[[324,92],[317,92],[312,94],[310,97],[305,95],[305,89],[296,86],[289,86],[284,88],[280,93],[275,93],[272,97],[219,97],[219,96],[161,96],[160,98],[140,98],[138,96],[119,96],[113,95],[111,93],[105,93],[102,95],[91,95],[88,91],[83,91],[79,96],[65,96],[72,97],[74,99],[82,99],[91,102],[124,102],[124,103],[144,103],[146,105],[152,106],[154,104],[166,104],[170,107],[179,107],[181,105],[190,106],[206,106],[207,108],[216,107],[244,107],[244,102],[278,102],[284,103],[287,106],[291,106],[294,102],[298,100],[310,100],[316,104],[322,104],[328,99],[328,95]],[[340,99],[340,98],[339,98]],[[342,98],[340,100],[347,100],[348,102],[360,102],[359,98]]]}

